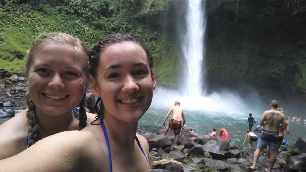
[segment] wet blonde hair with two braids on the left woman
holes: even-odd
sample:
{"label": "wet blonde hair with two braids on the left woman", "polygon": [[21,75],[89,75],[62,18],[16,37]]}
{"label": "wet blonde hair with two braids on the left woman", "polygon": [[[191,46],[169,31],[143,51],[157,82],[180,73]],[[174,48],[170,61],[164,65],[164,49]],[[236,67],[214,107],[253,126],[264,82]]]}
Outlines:
{"label": "wet blonde hair with two braids on the left woman", "polygon": [[[56,44],[69,44],[75,47],[75,58],[85,58],[88,60],[87,56],[87,49],[84,43],[77,37],[66,34],[66,33],[61,33],[61,32],[50,32],[50,33],[42,33],[41,35],[38,36],[35,41],[33,41],[32,46],[30,50],[28,51],[28,58],[27,62],[25,63],[25,75],[28,78],[29,75],[29,69],[32,65],[33,58],[36,54],[37,51],[39,51],[40,46],[49,44],[49,43],[56,43]],[[85,63],[84,67],[82,70],[85,70],[85,83],[88,83],[89,80],[89,64]],[[81,83],[82,78],[81,78]],[[85,88],[87,85],[84,85]],[[86,126],[86,120],[87,120],[87,115],[86,115],[86,94],[84,92],[84,95],[82,97],[82,100],[79,102],[79,129],[83,129]],[[29,129],[28,129],[28,134],[30,138],[30,145],[33,145],[37,140],[37,133],[39,131],[39,121],[37,118],[36,114],[36,109],[35,109],[35,104],[31,100],[29,94],[28,94],[28,99],[27,99],[27,105],[28,105],[28,110],[26,117],[28,119],[29,123]]]}

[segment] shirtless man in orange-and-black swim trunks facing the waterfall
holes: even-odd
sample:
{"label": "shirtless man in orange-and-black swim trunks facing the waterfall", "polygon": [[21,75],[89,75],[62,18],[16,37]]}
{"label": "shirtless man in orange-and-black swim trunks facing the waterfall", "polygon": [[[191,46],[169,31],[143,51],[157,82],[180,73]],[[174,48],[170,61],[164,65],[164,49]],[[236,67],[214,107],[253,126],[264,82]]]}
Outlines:
{"label": "shirtless man in orange-and-black swim trunks facing the waterfall", "polygon": [[[169,129],[173,130],[174,137],[180,134],[181,129],[186,122],[185,112],[182,107],[180,107],[180,102],[175,101],[174,107],[171,107],[162,123],[162,127],[165,125],[165,121],[169,118],[171,112],[173,113],[173,117],[169,120],[169,125],[166,128],[165,134],[169,131]],[[183,119],[183,124],[182,124]]]}

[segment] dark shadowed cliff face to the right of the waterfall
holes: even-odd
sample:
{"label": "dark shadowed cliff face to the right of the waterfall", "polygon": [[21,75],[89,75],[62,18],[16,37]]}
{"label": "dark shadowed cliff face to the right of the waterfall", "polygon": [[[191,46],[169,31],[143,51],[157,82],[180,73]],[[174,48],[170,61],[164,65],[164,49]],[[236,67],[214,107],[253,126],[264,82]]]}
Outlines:
{"label": "dark shadowed cliff face to the right of the waterfall", "polygon": [[306,101],[306,1],[207,1],[206,10],[209,91]]}

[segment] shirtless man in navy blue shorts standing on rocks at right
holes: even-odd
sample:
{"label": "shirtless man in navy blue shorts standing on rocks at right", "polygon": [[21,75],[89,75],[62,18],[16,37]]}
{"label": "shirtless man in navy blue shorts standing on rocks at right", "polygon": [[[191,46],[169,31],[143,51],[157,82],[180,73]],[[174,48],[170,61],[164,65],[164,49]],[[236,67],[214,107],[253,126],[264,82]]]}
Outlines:
{"label": "shirtless man in navy blue shorts standing on rocks at right", "polygon": [[277,149],[277,143],[279,141],[279,128],[287,127],[285,115],[277,110],[278,102],[276,100],[272,100],[270,106],[271,110],[265,111],[260,119],[259,125],[264,125],[264,130],[260,136],[260,139],[257,142],[257,148],[254,152],[253,165],[250,166],[251,169],[255,169],[260,151],[267,145],[269,145],[270,164],[268,169],[266,169],[269,172],[271,171],[273,164],[276,160],[275,151]]}

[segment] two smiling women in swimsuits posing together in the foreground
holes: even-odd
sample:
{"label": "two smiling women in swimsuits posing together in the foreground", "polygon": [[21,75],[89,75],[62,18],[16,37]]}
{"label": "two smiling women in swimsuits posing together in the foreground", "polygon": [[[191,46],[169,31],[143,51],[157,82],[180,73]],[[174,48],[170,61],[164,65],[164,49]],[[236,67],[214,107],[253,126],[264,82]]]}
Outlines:
{"label": "two smiling women in swimsuits posing together in the foreground", "polygon": [[[75,36],[44,33],[25,68],[28,108],[0,125],[3,171],[150,171],[136,130],[156,80],[140,39],[109,35],[87,51]],[[86,112],[86,91],[97,116]]]}

